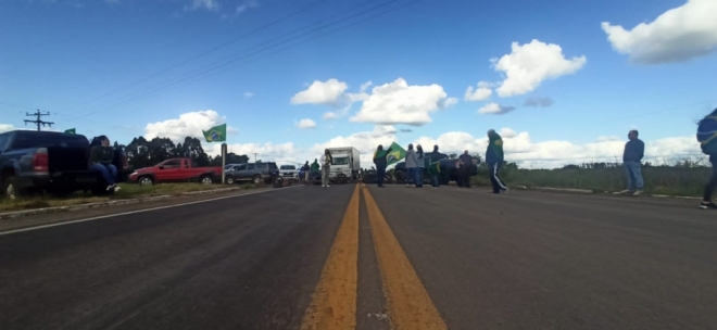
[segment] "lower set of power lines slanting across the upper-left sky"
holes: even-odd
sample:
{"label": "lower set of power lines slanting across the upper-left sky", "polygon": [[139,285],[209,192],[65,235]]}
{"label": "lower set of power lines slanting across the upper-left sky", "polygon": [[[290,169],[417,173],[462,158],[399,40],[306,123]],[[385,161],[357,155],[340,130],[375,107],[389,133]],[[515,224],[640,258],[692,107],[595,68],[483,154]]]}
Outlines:
{"label": "lower set of power lines slanting across the upper-left sky", "polygon": [[[189,79],[192,79],[192,78],[194,78],[194,77],[199,77],[199,76],[202,76],[202,75],[210,74],[210,73],[212,73],[212,72],[214,72],[214,71],[216,71],[216,69],[218,69],[218,68],[222,68],[222,67],[225,67],[225,66],[227,66],[227,65],[234,64],[234,63],[236,63],[236,62],[238,62],[238,61],[241,61],[241,60],[248,59],[248,58],[250,58],[250,56],[252,56],[252,55],[259,54],[259,53],[261,53],[261,52],[264,52],[264,51],[271,50],[271,49],[273,49],[273,48],[276,48],[276,47],[278,47],[278,46],[281,46],[281,45],[288,43],[288,42],[290,42],[290,41],[297,40],[297,39],[299,39],[299,38],[301,38],[301,37],[304,37],[304,36],[311,35],[311,34],[313,34],[313,33],[315,33],[315,31],[318,31],[318,30],[325,29],[325,28],[327,28],[327,27],[330,27],[330,26],[334,26],[334,25],[338,25],[338,24],[340,24],[340,23],[343,23],[343,22],[349,21],[349,20],[351,20],[351,18],[354,18],[354,17],[356,17],[356,16],[363,15],[363,14],[365,14],[365,13],[368,13],[368,12],[372,12],[372,11],[375,11],[375,10],[378,10],[378,9],[381,9],[381,8],[383,8],[383,7],[388,5],[388,4],[391,4],[391,3],[394,3],[394,2],[398,2],[398,1],[400,1],[400,0],[391,0],[391,1],[386,2],[386,3],[383,3],[383,4],[380,4],[380,5],[377,5],[377,7],[370,8],[370,9],[368,9],[368,10],[366,10],[366,11],[363,11],[363,12],[360,12],[360,13],[357,13],[357,14],[354,14],[354,15],[351,15],[351,16],[348,16],[348,17],[344,17],[344,18],[341,18],[341,20],[336,21],[336,22],[334,22],[334,23],[326,24],[326,25],[324,25],[324,26],[320,26],[320,27],[315,28],[315,29],[312,29],[312,30],[310,30],[310,31],[307,31],[307,33],[304,33],[304,34],[301,34],[301,35],[294,36],[294,37],[289,38],[289,39],[287,39],[287,40],[284,40],[284,41],[277,42],[277,43],[272,45],[272,46],[269,46],[269,47],[262,48],[262,49],[260,49],[260,50],[257,50],[257,51],[254,51],[254,52],[252,52],[252,53],[249,53],[249,54],[247,54],[247,55],[231,59],[231,60],[229,60],[229,61],[227,61],[227,62],[224,62],[224,63],[222,63],[222,64],[215,65],[214,67],[206,68],[206,69],[199,69],[199,72],[196,73],[196,74],[185,75],[184,77],[179,77],[178,80],[172,81],[172,82],[169,82],[169,84],[166,84],[166,85],[161,86],[161,87],[159,87],[159,88],[152,89],[152,90],[150,90],[150,91],[147,91],[147,92],[143,92],[143,93],[140,93],[140,94],[137,94],[137,96],[130,97],[130,98],[125,99],[125,100],[122,100],[122,101],[120,101],[120,102],[117,102],[117,103],[115,103],[115,104],[111,104],[111,105],[108,105],[108,106],[104,106],[104,107],[98,109],[98,110],[96,110],[96,111],[93,111],[93,112],[91,112],[91,113],[87,113],[87,114],[84,114],[84,115],[79,115],[79,116],[77,116],[77,117],[75,117],[75,118],[73,118],[73,119],[83,118],[83,117],[86,117],[86,116],[91,116],[91,115],[97,114],[97,113],[99,113],[99,112],[101,112],[101,111],[104,111],[104,110],[108,110],[108,109],[111,109],[111,107],[114,107],[114,106],[117,106],[117,105],[121,105],[121,104],[124,104],[124,103],[127,103],[127,102],[130,102],[130,101],[134,101],[134,100],[140,99],[140,98],[142,98],[142,97],[146,97],[146,96],[152,94],[152,93],[154,93],[154,92],[156,92],[156,91],[160,91],[160,90],[163,90],[163,89],[166,89],[166,88],[169,88],[169,87],[177,86],[177,85],[179,85],[179,84],[181,84],[181,82],[185,82],[185,81],[188,81]],[[309,39],[301,40],[301,41],[299,41],[299,42],[297,42],[297,43],[290,45],[289,47],[278,49],[278,50],[276,50],[276,51],[274,51],[274,52],[269,52],[268,54],[264,54],[263,56],[255,58],[255,59],[253,59],[251,62],[253,62],[253,61],[257,61],[257,60],[261,60],[262,58],[264,58],[264,56],[266,56],[266,55],[275,54],[275,53],[278,53],[278,52],[285,51],[285,50],[287,50],[287,49],[290,49],[290,48],[297,47],[297,46],[299,46],[299,45],[302,45],[302,43],[305,43],[305,42],[309,42],[309,41],[312,41],[312,40],[318,39],[318,38],[320,38],[320,37],[325,37],[325,36],[328,36],[328,35],[331,35],[331,34],[335,34],[335,33],[337,33],[337,31],[340,31],[340,30],[342,30],[342,29],[345,29],[345,28],[349,28],[349,27],[355,26],[355,25],[357,25],[357,24],[361,24],[361,23],[363,23],[363,22],[366,22],[366,21],[373,20],[373,18],[375,18],[375,17],[378,17],[378,16],[380,16],[380,15],[387,14],[387,13],[389,13],[389,12],[392,12],[392,11],[395,11],[395,10],[399,10],[399,9],[402,9],[402,8],[405,8],[405,7],[407,7],[407,5],[411,5],[411,4],[413,4],[413,3],[416,3],[416,2],[418,2],[418,1],[420,1],[420,0],[413,0],[413,1],[411,1],[411,2],[404,3],[403,5],[392,8],[392,9],[390,9],[390,10],[387,10],[387,11],[380,12],[380,13],[378,13],[378,14],[375,14],[375,15],[368,16],[368,17],[366,17],[366,18],[364,18],[364,20],[360,20],[360,21],[356,21],[356,22],[354,22],[354,23],[351,23],[351,24],[348,24],[348,25],[341,26],[341,27],[339,27],[339,28],[336,28],[336,29],[329,30],[329,31],[327,31],[327,33],[325,33],[325,34],[323,34],[323,35],[318,35],[318,36],[313,37],[313,38],[309,38]],[[320,22],[319,22],[319,23],[320,23]],[[315,25],[315,24],[316,24],[316,23],[311,24],[311,25]],[[310,25],[310,26],[311,26],[311,25]],[[294,34],[294,33],[295,33],[295,31],[292,31],[292,33],[287,34],[287,35],[292,35],[292,34]],[[282,37],[284,37],[284,36],[282,36]],[[264,42],[264,43],[262,43],[262,45],[265,45],[265,43],[268,43],[268,42]],[[254,48],[256,48],[256,47],[254,47]],[[246,62],[246,63],[251,63],[251,62]],[[244,64],[246,64],[246,63],[244,63]],[[197,71],[196,71],[196,72],[197,72]],[[216,73],[222,73],[222,72],[225,72],[225,71],[221,71],[221,72],[216,72]]]}

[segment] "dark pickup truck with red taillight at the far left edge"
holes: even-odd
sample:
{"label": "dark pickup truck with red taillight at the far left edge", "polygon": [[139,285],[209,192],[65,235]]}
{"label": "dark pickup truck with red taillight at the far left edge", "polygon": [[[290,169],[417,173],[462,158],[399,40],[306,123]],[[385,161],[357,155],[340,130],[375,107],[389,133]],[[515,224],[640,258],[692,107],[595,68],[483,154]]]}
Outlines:
{"label": "dark pickup truck with red taillight at the far left edge", "polygon": [[[106,182],[88,169],[90,142],[85,136],[53,131],[14,130],[0,134],[0,187],[5,198],[48,191],[104,193]],[[130,173],[124,150],[116,149],[117,181]]]}

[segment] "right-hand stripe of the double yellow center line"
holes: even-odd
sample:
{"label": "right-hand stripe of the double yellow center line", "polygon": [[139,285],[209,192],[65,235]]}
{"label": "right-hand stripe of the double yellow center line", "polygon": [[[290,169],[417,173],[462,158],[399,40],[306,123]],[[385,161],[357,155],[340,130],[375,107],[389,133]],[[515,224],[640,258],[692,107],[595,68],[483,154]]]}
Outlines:
{"label": "right-hand stripe of the double yellow center line", "polygon": [[368,189],[363,189],[392,329],[448,329]]}

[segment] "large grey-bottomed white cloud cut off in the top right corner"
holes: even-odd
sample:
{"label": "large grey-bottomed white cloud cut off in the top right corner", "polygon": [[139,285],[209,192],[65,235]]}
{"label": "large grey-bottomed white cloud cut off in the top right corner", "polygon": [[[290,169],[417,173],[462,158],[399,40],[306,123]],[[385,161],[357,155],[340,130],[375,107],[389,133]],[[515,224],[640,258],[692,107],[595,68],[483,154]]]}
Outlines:
{"label": "large grey-bottomed white cloud cut off in the top right corner", "polygon": [[717,49],[717,1],[688,0],[651,23],[631,30],[603,22],[607,40],[618,53],[640,64],[683,62]]}

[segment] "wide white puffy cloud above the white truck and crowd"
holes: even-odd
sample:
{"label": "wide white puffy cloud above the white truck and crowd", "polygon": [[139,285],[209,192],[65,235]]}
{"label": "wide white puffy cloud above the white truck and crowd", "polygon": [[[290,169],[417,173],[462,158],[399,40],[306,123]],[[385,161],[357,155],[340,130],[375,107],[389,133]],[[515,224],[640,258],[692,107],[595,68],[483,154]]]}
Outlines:
{"label": "wide white puffy cloud above the white truck and crowd", "polygon": [[440,85],[410,86],[405,79],[398,78],[374,87],[351,122],[422,126],[431,122],[430,113],[456,102],[456,99],[448,98]]}

